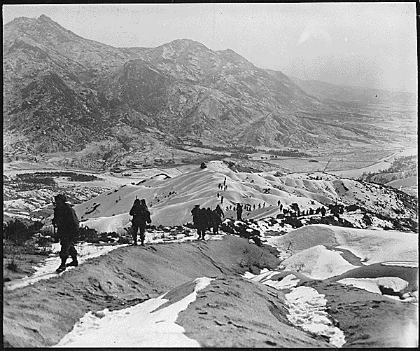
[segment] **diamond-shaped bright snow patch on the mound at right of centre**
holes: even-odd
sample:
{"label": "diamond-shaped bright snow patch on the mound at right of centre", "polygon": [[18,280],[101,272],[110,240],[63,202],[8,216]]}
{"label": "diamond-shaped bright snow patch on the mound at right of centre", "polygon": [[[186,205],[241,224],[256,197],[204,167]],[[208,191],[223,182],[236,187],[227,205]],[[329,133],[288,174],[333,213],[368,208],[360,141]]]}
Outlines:
{"label": "diamond-shaped bright snow patch on the mound at right of centre", "polygon": [[339,254],[316,245],[281,262],[284,270],[294,270],[313,279],[327,279],[356,268]]}

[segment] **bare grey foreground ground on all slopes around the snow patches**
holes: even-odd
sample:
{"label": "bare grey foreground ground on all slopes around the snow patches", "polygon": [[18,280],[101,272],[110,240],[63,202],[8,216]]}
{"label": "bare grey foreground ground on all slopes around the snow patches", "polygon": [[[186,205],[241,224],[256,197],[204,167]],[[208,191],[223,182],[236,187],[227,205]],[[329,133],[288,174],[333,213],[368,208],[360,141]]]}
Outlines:
{"label": "bare grey foreground ground on all slopes around the snow patches", "polygon": [[[290,289],[242,277],[250,270],[256,274],[279,266],[276,254],[272,247],[258,247],[234,235],[120,247],[50,280],[4,289],[3,345],[52,346],[86,312],[111,313],[169,291],[165,296],[169,301],[160,307],[165,308],[194,289],[192,280],[209,277],[215,280],[198,291],[195,301],[176,318],[185,335],[200,346],[331,347],[328,338],[290,323],[285,298]],[[344,331],[344,347],[415,343],[409,333],[416,326],[416,304],[338,282],[304,278],[300,284],[325,294],[330,323]]]}

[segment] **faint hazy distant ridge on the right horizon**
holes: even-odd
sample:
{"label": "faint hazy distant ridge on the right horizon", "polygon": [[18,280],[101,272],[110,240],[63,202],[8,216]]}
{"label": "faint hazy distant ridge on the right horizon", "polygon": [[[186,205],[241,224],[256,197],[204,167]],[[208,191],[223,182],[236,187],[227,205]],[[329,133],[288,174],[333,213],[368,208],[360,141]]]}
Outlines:
{"label": "faint hazy distant ridge on the right horizon", "polygon": [[413,92],[393,92],[383,89],[351,87],[316,81],[304,81],[293,76],[289,77],[308,95],[321,99],[332,99],[340,102],[364,102],[369,104],[416,104],[416,95]]}

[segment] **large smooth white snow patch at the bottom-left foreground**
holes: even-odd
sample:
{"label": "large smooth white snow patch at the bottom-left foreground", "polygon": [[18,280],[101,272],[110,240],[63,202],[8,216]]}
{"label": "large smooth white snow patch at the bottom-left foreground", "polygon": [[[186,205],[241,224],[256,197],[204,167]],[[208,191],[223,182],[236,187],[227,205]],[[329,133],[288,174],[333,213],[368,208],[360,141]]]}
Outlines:
{"label": "large smooth white snow patch at the bottom-left foreground", "polygon": [[87,312],[55,347],[200,347],[175,321],[211,280],[197,278],[193,293],[158,311],[166,294],[123,310]]}

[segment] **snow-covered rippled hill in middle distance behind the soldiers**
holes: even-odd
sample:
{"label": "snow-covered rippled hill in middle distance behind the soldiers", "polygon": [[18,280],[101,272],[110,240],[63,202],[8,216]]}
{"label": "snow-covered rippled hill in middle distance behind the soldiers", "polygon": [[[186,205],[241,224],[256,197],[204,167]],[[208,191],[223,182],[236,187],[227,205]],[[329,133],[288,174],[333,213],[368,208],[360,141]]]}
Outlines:
{"label": "snow-covered rippled hill in middle distance behind the soldiers", "polygon": [[[225,179],[227,189],[221,190],[218,185]],[[76,205],[75,209],[85,226],[121,231],[130,225],[128,212],[136,197],[146,200],[155,226],[179,226],[192,221],[190,211],[194,205],[213,209],[221,205],[225,214],[234,218],[236,213],[230,208],[239,202],[251,205],[251,211],[244,211],[244,219],[255,220],[282,214],[279,202],[288,208],[297,203],[301,212],[342,204],[346,207],[342,219],[356,228],[379,226],[407,230],[410,221],[416,218],[415,199],[391,187],[323,173],[276,177],[269,172],[235,172],[223,161],[211,161],[207,168],[197,167],[172,178],[156,174],[102,193]],[[307,214],[302,221],[315,217],[321,216]]]}

